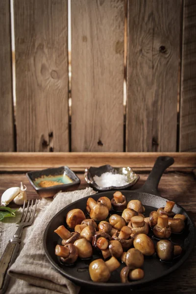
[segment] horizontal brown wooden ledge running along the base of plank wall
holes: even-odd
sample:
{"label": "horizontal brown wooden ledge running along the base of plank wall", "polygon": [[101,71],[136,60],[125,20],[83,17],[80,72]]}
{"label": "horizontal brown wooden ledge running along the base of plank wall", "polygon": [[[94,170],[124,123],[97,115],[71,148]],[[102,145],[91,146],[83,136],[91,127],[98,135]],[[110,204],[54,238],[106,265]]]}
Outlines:
{"label": "horizontal brown wooden ledge running along the base of plank wall", "polygon": [[84,171],[105,164],[148,171],[158,156],[174,158],[174,164],[168,169],[171,171],[196,168],[196,152],[0,152],[0,171],[25,172],[64,165],[74,171]]}

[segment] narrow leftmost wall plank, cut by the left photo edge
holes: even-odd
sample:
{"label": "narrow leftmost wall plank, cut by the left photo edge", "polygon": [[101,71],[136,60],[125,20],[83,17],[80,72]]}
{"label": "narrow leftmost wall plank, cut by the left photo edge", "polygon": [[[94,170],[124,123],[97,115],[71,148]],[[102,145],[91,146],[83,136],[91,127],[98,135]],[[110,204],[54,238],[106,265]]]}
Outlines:
{"label": "narrow leftmost wall plank, cut by the left photo edge", "polygon": [[10,3],[0,1],[0,151],[14,151]]}

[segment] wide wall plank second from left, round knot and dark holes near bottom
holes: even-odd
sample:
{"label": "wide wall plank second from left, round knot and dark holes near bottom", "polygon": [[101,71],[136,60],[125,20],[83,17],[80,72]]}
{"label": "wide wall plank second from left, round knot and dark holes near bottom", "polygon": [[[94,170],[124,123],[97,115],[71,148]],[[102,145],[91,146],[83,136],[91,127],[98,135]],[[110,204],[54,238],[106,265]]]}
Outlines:
{"label": "wide wall plank second from left, round knot and dark holes near bottom", "polygon": [[17,151],[68,151],[66,0],[14,0]]}

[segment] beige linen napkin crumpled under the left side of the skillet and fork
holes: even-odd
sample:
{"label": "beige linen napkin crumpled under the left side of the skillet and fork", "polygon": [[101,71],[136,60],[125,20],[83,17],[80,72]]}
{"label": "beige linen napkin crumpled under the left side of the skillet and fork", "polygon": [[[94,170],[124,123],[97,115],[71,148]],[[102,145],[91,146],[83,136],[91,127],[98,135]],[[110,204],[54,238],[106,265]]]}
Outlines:
{"label": "beige linen napkin crumpled under the left side of the skillet and fork", "polygon": [[[79,292],[80,288],[78,286],[62,276],[49,263],[45,255],[43,236],[49,221],[58,211],[75,200],[95,193],[93,189],[86,188],[85,190],[74,192],[60,192],[52,202],[49,199],[39,201],[34,224],[24,229],[21,244],[22,250],[15,263],[9,269],[9,274],[14,279],[12,278],[6,294],[55,294],[56,292],[77,294]],[[42,209],[43,201],[45,204],[44,209]],[[10,224],[7,224],[7,235],[10,234],[8,234],[9,227]],[[15,230],[16,226],[13,234]],[[6,238],[2,236],[5,232],[2,233],[1,227],[0,232],[1,240],[5,240]],[[12,235],[9,235],[9,239]]]}

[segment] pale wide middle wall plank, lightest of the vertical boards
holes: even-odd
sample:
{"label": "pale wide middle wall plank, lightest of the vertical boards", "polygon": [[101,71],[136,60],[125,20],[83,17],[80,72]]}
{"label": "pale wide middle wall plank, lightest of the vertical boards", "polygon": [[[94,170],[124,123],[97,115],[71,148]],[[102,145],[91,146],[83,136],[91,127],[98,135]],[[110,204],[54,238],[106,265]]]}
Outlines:
{"label": "pale wide middle wall plank, lightest of the vertical boards", "polygon": [[72,151],[123,151],[123,0],[72,0]]}

